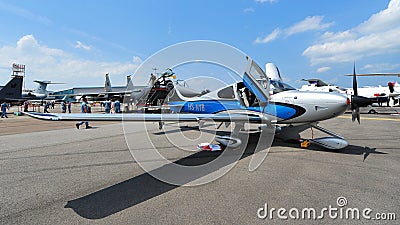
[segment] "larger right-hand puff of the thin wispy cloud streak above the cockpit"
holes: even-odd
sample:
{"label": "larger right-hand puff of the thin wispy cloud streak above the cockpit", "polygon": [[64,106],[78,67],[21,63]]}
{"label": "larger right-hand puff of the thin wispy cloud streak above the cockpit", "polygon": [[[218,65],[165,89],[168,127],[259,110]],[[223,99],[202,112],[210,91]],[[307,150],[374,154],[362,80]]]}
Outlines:
{"label": "larger right-hand puff of the thin wispy cloud streak above the cockpit", "polygon": [[323,19],[323,16],[308,16],[304,20],[287,28],[285,33],[287,36],[290,36],[311,30],[325,30],[333,25],[333,23],[322,23]]}

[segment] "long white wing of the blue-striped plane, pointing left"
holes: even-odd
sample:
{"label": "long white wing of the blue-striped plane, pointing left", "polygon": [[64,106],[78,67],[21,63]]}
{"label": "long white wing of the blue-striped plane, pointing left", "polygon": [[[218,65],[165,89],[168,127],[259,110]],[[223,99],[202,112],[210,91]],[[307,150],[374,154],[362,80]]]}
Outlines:
{"label": "long white wing of the blue-striped plane, pointing left", "polygon": [[36,113],[25,112],[28,116],[42,120],[55,121],[146,121],[146,122],[197,122],[200,120],[213,120],[216,122],[261,122],[262,118],[246,114],[90,114],[90,113]]}

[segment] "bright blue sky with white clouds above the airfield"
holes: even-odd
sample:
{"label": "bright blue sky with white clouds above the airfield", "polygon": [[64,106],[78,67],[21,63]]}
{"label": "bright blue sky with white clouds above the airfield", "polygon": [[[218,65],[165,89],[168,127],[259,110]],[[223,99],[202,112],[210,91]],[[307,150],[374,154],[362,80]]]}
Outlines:
{"label": "bright blue sky with white clouds above the airfield", "polygon": [[[400,71],[400,0],[0,0],[0,84],[12,63],[35,79],[72,86],[113,85],[169,45],[214,40],[261,67],[275,63],[286,81],[321,78],[349,87],[358,73]],[[151,72],[151,71],[149,71]],[[396,77],[360,78],[386,85]]]}

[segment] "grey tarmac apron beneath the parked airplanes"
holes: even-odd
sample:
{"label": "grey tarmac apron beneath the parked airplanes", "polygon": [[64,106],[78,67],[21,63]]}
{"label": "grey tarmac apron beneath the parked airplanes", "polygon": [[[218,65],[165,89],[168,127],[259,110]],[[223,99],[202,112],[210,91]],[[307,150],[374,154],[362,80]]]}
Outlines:
{"label": "grey tarmac apron beneath the parked airplanes", "polygon": [[[169,123],[168,131],[160,131],[157,123],[146,123],[147,130],[116,122],[91,125],[93,129],[77,130],[74,122],[27,116],[0,120],[0,224],[398,224],[398,115],[362,114],[360,125],[351,122],[350,114],[322,121],[320,126],[350,145],[339,151],[302,149],[298,143],[276,140],[260,167],[250,172],[257,137],[252,135],[232,170],[192,187],[164,183],[146,173],[125,137],[143,152],[148,149],[141,146],[150,138],[170,161],[195,166],[222,154],[196,151],[195,143],[208,138],[199,136],[196,124]],[[171,142],[164,138],[167,132],[185,138]],[[210,177],[223,166],[197,178]],[[339,206],[343,197],[347,204]],[[268,212],[275,208],[272,219],[271,214],[259,218],[266,205]],[[331,218],[327,212],[320,219],[278,218],[279,208],[286,209],[286,216],[298,209],[301,216],[302,209],[311,207],[318,215],[329,207],[372,212],[369,220],[361,215],[359,220]],[[397,218],[374,220],[377,213]]]}

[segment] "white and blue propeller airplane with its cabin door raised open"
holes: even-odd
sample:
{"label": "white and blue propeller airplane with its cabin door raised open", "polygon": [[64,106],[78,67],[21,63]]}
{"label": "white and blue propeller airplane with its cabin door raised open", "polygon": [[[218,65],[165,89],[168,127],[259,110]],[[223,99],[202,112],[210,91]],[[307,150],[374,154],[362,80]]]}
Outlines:
{"label": "white and blue propeller airplane with its cabin door raised open", "polygon": [[[275,137],[283,140],[302,140],[300,133],[309,128],[326,133],[327,137],[310,139],[311,143],[327,149],[342,149],[348,142],[332,131],[318,126],[319,121],[343,114],[350,100],[339,93],[300,92],[282,82],[276,66],[268,65],[264,72],[246,57],[247,68],[241,80],[201,96],[185,97],[174,89],[169,97],[168,114],[45,114],[27,113],[44,120],[70,121],[155,121],[160,128],[164,122],[213,120],[234,124],[230,136],[217,136],[216,141],[228,147],[242,142],[239,132],[246,123],[259,124],[260,132],[273,128]],[[359,117],[357,105],[352,106],[353,119]]]}

